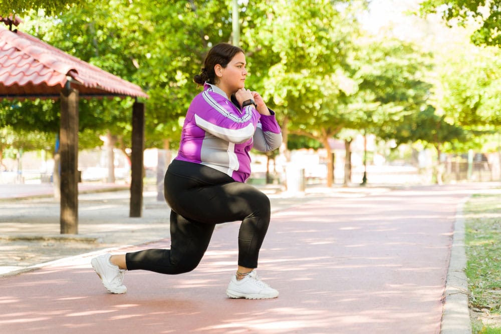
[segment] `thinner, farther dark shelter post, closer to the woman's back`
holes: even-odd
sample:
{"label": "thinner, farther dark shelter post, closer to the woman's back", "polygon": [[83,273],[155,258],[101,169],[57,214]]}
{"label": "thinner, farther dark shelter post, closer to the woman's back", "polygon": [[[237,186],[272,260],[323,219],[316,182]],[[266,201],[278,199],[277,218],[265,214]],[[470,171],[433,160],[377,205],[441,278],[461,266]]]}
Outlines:
{"label": "thinner, farther dark shelter post, closer to the woman's back", "polygon": [[141,217],[143,208],[144,103],[132,106],[132,153],[129,217]]}

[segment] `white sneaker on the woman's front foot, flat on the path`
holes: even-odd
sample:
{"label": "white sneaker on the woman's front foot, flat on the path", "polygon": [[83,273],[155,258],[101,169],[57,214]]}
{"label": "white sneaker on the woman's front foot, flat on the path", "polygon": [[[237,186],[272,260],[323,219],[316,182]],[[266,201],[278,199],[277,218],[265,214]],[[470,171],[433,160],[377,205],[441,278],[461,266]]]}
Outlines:
{"label": "white sneaker on the woman's front foot, flat on the path", "polygon": [[279,291],[259,279],[256,270],[253,270],[240,280],[233,275],[226,289],[226,295],[230,298],[268,299],[277,298]]}

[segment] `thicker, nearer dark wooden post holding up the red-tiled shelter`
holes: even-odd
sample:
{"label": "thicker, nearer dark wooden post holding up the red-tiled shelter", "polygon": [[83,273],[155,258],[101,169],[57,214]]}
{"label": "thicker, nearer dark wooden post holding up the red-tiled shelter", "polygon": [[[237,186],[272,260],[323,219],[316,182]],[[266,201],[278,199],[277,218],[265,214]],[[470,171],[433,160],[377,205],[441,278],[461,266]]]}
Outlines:
{"label": "thicker, nearer dark wooden post holding up the red-tiled shelter", "polygon": [[[61,91],[61,234],[78,234],[78,91]],[[57,169],[56,169],[57,170]]]}

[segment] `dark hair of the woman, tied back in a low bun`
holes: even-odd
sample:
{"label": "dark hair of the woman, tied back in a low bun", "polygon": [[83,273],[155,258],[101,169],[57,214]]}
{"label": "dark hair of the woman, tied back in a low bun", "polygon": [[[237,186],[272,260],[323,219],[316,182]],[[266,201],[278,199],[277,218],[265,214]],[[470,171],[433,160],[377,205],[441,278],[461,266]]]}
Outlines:
{"label": "dark hair of the woman, tied back in a low bun", "polygon": [[206,81],[209,84],[215,84],[214,66],[219,64],[226,68],[230,60],[239,52],[243,53],[243,50],[227,43],[219,43],[213,46],[205,56],[200,74],[194,76],[193,81],[198,85],[203,85]]}

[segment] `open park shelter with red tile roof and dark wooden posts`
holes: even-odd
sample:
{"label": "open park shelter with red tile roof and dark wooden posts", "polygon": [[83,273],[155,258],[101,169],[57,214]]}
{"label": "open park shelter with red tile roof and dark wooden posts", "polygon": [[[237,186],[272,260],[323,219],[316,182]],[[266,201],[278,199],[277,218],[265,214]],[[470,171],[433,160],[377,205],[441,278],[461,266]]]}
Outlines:
{"label": "open park shelter with red tile roof and dark wooden posts", "polygon": [[[7,23],[6,23],[7,24]],[[12,25],[11,25],[12,27]],[[134,97],[130,215],[141,215],[144,104],[135,84],[18,30],[0,27],[0,99],[61,99],[61,233],[78,233],[78,100]]]}

